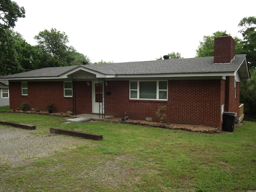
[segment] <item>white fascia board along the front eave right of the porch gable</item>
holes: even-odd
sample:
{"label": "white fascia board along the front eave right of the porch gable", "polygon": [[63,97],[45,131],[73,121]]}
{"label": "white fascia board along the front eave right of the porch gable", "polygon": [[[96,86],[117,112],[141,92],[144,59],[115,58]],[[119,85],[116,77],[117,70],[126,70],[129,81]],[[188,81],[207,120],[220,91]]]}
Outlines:
{"label": "white fascia board along the front eave right of the porch gable", "polygon": [[161,78],[161,77],[205,77],[205,76],[234,76],[234,72],[223,73],[176,73],[176,74],[134,74],[134,75],[116,75],[116,78]]}

